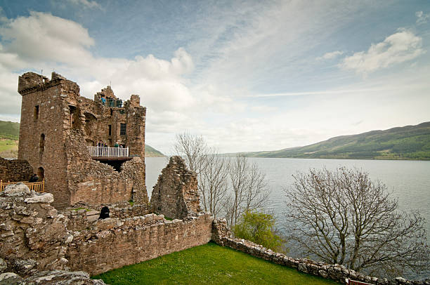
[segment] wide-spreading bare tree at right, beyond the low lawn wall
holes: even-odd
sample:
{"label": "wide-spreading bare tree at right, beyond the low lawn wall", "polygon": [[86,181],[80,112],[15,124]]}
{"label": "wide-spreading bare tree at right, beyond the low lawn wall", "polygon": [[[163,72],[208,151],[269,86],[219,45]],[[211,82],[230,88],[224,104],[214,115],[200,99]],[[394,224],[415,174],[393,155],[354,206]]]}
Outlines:
{"label": "wide-spreading bare tree at right, beyond the low lawn wall", "polygon": [[385,277],[428,268],[424,218],[400,211],[384,184],[347,168],[293,176],[287,227],[302,254]]}

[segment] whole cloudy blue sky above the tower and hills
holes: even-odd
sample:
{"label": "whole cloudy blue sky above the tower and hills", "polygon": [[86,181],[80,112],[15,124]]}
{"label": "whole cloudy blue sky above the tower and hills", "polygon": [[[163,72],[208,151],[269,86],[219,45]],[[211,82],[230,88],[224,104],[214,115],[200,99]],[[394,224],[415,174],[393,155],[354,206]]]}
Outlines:
{"label": "whole cloudy blue sky above the tower and hills", "polygon": [[430,121],[430,1],[0,0],[0,119],[18,75],[141,95],[146,142],[278,150]]}

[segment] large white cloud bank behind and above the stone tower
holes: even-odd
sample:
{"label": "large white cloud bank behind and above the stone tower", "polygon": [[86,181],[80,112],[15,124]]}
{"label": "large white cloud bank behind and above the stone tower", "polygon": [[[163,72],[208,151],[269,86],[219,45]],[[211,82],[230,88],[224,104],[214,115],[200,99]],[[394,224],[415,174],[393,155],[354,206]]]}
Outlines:
{"label": "large white cloud bank behind and above the stone tower", "polygon": [[[131,60],[96,58],[89,51],[95,42],[87,29],[77,22],[39,12],[8,20],[0,27],[0,37],[1,81],[8,83],[0,87],[1,100],[8,102],[1,105],[0,114],[19,112],[18,72],[34,69],[44,69],[44,74],[55,69],[77,81],[81,95],[88,98],[112,81],[119,98],[139,94],[141,104],[152,112],[180,114],[197,104],[182,78],[194,68],[193,59],[183,48],[178,48],[171,60],[154,55],[138,55]],[[183,116],[169,116],[185,121]]]}

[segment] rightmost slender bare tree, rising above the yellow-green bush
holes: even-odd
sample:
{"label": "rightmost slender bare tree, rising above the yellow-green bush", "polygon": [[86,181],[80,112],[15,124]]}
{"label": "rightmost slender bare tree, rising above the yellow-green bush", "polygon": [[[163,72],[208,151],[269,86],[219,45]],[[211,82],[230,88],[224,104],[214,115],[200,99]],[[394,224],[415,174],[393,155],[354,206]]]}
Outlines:
{"label": "rightmost slender bare tree, rising above the yellow-green bush", "polygon": [[255,164],[249,164],[243,154],[237,154],[231,161],[228,177],[230,194],[224,207],[228,224],[233,226],[245,211],[263,209],[268,201],[269,190],[266,174]]}

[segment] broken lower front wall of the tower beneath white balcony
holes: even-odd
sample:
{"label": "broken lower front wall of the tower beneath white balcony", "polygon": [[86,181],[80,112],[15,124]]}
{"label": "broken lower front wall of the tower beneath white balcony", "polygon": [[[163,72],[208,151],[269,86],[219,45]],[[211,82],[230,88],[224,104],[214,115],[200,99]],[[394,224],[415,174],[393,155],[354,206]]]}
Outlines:
{"label": "broken lower front wall of the tower beneath white balcony", "polygon": [[134,157],[117,172],[112,166],[91,159],[82,130],[67,130],[67,183],[70,205],[116,204],[135,201],[148,204],[145,187],[145,164]]}

